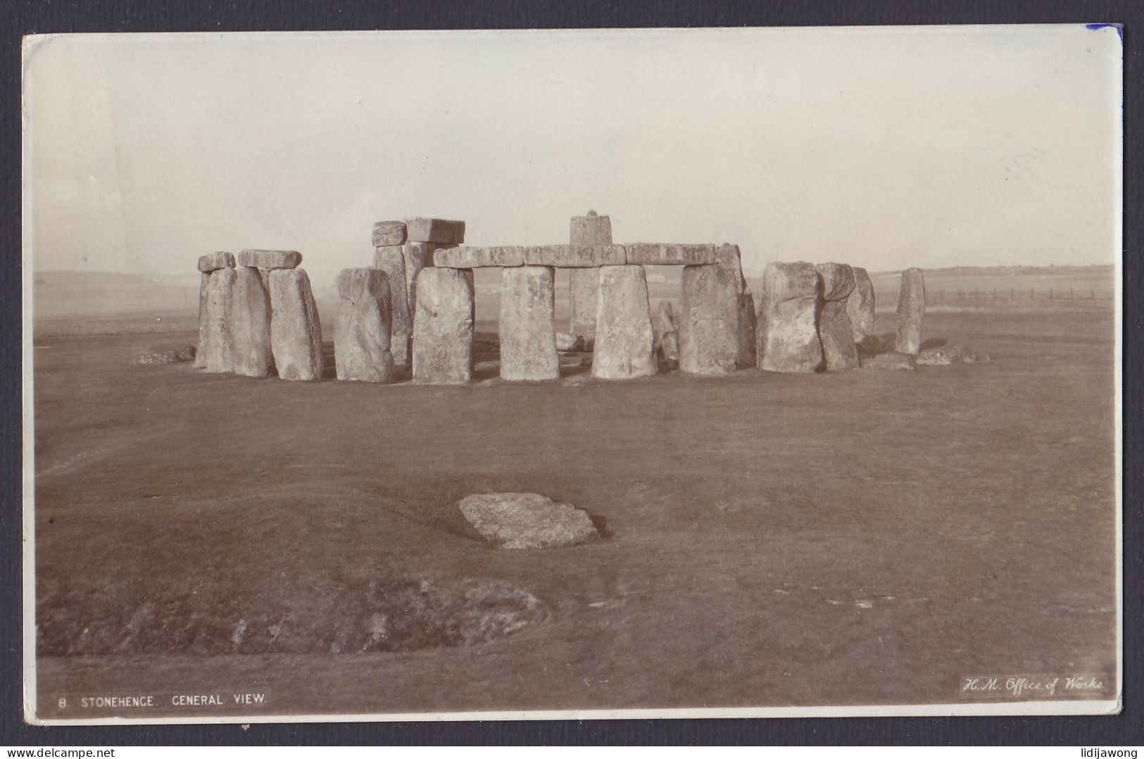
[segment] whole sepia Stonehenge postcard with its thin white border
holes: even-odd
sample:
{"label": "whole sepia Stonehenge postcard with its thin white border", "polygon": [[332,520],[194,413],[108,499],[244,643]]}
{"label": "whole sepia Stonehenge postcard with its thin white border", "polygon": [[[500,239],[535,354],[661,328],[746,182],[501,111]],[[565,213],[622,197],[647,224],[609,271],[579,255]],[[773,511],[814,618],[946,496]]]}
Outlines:
{"label": "whole sepia Stonehenge postcard with its thin white border", "polygon": [[25,37],[25,720],[1118,713],[1121,34]]}

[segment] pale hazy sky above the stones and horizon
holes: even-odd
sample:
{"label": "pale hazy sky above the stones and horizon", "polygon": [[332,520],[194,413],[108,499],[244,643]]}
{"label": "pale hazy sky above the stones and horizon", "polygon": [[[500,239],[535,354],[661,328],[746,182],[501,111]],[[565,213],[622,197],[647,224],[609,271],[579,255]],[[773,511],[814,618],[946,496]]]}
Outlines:
{"label": "pale hazy sky above the stones and horizon", "polygon": [[756,271],[1112,263],[1121,57],[1083,25],[34,38],[25,252],[333,272],[375,221],[540,245],[595,209]]}

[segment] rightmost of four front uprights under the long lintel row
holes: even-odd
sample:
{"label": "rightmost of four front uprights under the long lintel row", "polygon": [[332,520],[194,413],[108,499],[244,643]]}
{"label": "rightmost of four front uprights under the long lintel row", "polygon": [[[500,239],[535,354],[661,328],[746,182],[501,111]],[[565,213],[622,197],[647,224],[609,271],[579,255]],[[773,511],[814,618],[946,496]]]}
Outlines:
{"label": "rightmost of four front uprights under the long lintel row", "polygon": [[718,264],[683,268],[680,301],[680,370],[729,374],[739,357],[739,286]]}

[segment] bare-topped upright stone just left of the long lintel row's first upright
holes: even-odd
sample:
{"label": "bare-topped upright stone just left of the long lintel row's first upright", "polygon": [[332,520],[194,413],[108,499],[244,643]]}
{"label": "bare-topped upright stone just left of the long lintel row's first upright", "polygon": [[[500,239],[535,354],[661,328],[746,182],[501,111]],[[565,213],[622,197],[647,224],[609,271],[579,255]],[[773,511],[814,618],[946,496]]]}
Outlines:
{"label": "bare-topped upright stone just left of the long lintel row's first upright", "polygon": [[342,269],[337,294],[342,299],[334,323],[337,379],[392,382],[389,277],[379,269]]}

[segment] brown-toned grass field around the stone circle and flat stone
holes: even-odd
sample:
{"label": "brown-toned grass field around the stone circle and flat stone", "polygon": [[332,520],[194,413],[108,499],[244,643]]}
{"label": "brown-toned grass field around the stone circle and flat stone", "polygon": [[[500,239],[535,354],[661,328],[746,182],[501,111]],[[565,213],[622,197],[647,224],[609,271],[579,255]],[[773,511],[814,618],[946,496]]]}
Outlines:
{"label": "brown-toned grass field around the stone circle and flat stone", "polygon": [[[43,331],[40,715],[948,703],[1042,673],[1111,697],[1105,306],[927,316],[987,363],[618,384],[252,380],[133,365],[190,327]],[[491,548],[456,501],[501,490],[604,538]],[[78,706],[127,694],[160,705]]]}

